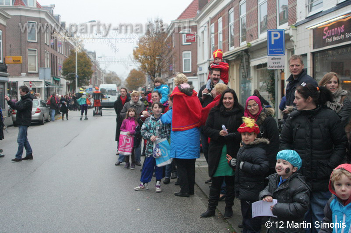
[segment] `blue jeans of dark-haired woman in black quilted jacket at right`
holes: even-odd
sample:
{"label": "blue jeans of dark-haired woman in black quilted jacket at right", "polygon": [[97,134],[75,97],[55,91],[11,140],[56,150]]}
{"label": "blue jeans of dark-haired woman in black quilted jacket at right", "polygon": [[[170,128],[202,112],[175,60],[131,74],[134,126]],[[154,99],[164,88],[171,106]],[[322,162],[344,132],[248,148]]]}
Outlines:
{"label": "blue jeans of dark-haired woman in black quilted jacket at right", "polygon": [[311,223],[312,228],[305,228],[306,233],[317,233],[320,228],[315,228],[315,222],[321,222],[324,218],[324,207],[331,197],[328,191],[314,191],[310,194],[309,208],[305,214],[305,221]]}

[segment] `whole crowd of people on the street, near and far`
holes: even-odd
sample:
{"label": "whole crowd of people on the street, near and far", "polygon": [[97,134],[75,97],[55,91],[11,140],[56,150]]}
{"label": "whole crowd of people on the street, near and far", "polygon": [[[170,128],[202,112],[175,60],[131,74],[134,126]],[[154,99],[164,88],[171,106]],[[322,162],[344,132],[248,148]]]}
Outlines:
{"label": "whole crowd of people on the street, near and far", "polygon": [[[155,177],[159,193],[162,179],[169,184],[177,178],[180,190],[174,195],[194,195],[195,161],[202,147],[210,193],[201,218],[214,216],[221,200],[226,204],[223,217],[231,218],[238,198],[243,217],[239,227],[243,232],[260,232],[262,217],[252,216],[252,203],[263,200],[272,203],[275,217],[270,221],[278,222],[269,232],[349,230],[351,165],[346,162],[351,102],[337,74],[327,73],[317,84],[304,70],[302,57],[290,57],[291,75],[280,104],[285,124],[279,133],[269,102],[254,91],[242,106],[236,92],[227,87],[229,66],[222,60],[222,51],[213,55],[208,81],[198,93],[182,73],[174,78],[171,93],[161,78],[154,80],[152,92],[129,94],[126,88],[120,89],[114,103],[119,155],[115,165],[124,163],[125,170],[141,167],[140,184],[134,190],[149,190]],[[27,140],[32,97],[25,86],[20,87],[20,95],[17,103],[5,96],[18,111],[19,147],[13,161],[33,159]],[[83,112],[87,119],[89,98],[83,90],[75,97],[81,105],[80,120]],[[54,93],[49,99],[53,115],[60,103],[62,117],[67,118],[71,99]],[[141,156],[145,156],[143,164]],[[289,228],[292,222],[297,225]]]}

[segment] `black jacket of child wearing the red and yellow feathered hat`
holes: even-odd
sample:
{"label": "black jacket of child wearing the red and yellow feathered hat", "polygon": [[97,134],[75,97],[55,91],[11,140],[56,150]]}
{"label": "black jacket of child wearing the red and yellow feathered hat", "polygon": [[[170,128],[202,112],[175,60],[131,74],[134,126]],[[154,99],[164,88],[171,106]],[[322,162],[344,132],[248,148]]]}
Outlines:
{"label": "black jacket of child wearing the red and yellow feathered hat", "polygon": [[240,200],[257,201],[258,194],[264,189],[264,176],[268,171],[265,146],[268,143],[267,139],[259,138],[239,149],[235,167],[235,196]]}

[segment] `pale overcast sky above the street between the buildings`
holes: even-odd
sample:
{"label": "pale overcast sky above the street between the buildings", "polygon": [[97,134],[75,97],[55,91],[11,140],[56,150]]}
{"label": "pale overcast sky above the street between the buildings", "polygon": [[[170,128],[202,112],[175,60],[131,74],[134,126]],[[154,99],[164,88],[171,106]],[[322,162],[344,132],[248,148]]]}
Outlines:
{"label": "pale overcast sky above the street between the buildings", "polygon": [[[111,28],[118,27],[121,23],[140,23],[145,25],[148,19],[155,17],[162,18],[165,23],[170,24],[171,20],[183,12],[192,0],[38,0],[41,5],[55,5],[54,14],[61,15],[61,21],[70,23],[84,23],[90,20],[99,21]],[[102,25],[101,25],[102,28]],[[102,30],[102,29],[101,29]],[[140,34],[139,34],[140,35]],[[102,37],[101,35],[90,34],[89,37]],[[113,46],[108,45],[103,39],[86,39],[85,49],[96,51],[96,56],[106,56],[107,60],[127,60],[132,55],[132,50],[136,46],[136,41],[129,39],[137,34],[119,34],[117,38],[122,40],[115,44],[118,51]],[[109,37],[116,37],[115,32],[111,32]],[[134,41],[132,43],[125,41]],[[102,69],[115,71],[120,77],[126,78],[129,71],[135,68],[134,65],[104,62],[98,59]]]}

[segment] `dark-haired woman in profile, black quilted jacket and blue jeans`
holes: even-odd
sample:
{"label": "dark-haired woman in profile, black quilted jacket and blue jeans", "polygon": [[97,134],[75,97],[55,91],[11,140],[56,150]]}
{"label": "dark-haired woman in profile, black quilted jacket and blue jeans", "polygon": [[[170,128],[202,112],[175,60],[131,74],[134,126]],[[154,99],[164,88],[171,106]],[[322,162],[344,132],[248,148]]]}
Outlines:
{"label": "dark-haired woman in profile, black quilted jacket and blue jeans", "polygon": [[322,221],[324,206],[331,197],[328,190],[333,169],[343,163],[347,138],[340,117],[324,104],[332,101],[326,87],[302,83],[296,88],[294,104],[297,110],[290,113],[280,134],[280,150],[295,150],[302,159],[299,170],[311,188],[310,206],[305,221]]}

